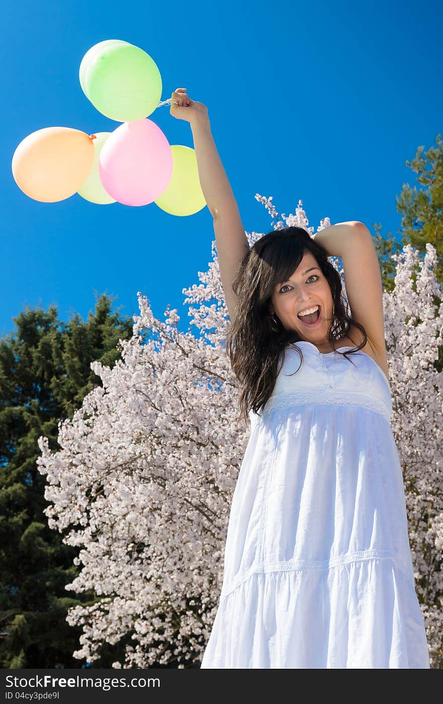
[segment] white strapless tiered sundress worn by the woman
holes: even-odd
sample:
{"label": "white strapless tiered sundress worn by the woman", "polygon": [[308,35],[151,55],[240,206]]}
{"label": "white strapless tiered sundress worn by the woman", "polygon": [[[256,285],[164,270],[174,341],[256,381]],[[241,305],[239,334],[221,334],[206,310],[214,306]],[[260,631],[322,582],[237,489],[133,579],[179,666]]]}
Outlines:
{"label": "white strapless tiered sundress worn by the woman", "polygon": [[249,412],[201,667],[429,668],[389,382],[297,345]]}

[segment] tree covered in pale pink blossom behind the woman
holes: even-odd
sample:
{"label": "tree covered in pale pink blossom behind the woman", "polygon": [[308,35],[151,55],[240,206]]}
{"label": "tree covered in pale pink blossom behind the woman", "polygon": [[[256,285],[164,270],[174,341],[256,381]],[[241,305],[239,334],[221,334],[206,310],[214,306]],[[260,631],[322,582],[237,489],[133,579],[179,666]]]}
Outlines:
{"label": "tree covered in pale pink blossom behind the woman", "polygon": [[[279,220],[272,198],[256,199],[274,227],[297,225],[313,234],[301,201],[295,215]],[[328,225],[325,218],[318,229]],[[249,244],[261,236],[247,233]],[[68,623],[83,628],[75,658],[97,660],[103,643],[129,635],[134,646],[113,667],[183,668],[198,663],[206,647],[250,432],[237,421],[215,241],[212,255],[201,283],[183,289],[201,337],[179,332],[177,310],[169,306],[165,322],[156,320],[139,292],[132,338],[119,341],[122,359],[112,369],[91,364],[103,386],[92,389],[72,420],[59,423],[61,449],[51,453],[39,438],[49,527],[80,548],[81,570],[66,589],[97,595],[93,605],[68,612]],[[341,260],[330,260],[344,285]],[[434,363],[443,344],[443,304],[431,245],[424,259],[404,246],[396,263],[394,290],[383,294],[392,429],[431,667],[442,667],[443,375]]]}

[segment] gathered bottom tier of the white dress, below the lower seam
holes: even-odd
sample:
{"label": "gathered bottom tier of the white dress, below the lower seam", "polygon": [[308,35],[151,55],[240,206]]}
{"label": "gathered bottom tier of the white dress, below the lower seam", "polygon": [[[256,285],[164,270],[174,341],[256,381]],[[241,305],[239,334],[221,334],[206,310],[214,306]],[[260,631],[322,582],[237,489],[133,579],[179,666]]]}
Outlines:
{"label": "gathered bottom tier of the white dress, below the lower seam", "polygon": [[430,662],[411,578],[390,558],[368,558],[327,570],[254,572],[220,598],[201,667],[429,669]]}

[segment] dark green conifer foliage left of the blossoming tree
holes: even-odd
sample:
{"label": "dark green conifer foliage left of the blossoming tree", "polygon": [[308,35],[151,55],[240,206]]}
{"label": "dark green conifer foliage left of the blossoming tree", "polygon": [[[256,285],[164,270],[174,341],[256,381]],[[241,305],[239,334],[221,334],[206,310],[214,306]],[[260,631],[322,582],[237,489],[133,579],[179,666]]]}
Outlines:
{"label": "dark green conifer foliage left of the blossoming tree", "polygon": [[[66,622],[69,608],[96,601],[94,592],[66,591],[79,574],[79,548],[49,529],[43,513],[46,477],[36,465],[37,439],[58,450],[58,421],[73,417],[101,379],[94,360],[113,367],[118,339],[132,337],[132,318],[111,313],[111,299],[96,300],[87,322],[68,324],[51,306],[25,309],[16,332],[0,340],[0,663],[2,668],[85,667],[73,658],[82,633]],[[94,667],[124,659],[124,643],[108,648]]]}

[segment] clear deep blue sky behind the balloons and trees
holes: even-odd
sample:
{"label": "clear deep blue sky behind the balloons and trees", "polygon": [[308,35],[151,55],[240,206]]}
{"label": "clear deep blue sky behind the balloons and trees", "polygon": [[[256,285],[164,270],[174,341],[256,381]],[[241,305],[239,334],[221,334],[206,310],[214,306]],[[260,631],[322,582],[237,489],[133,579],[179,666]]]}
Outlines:
{"label": "clear deep blue sky behind the balloons and trees", "polygon": [[[198,284],[211,260],[208,208],[187,218],[155,203],[99,206],[75,194],[39,203],[11,172],[15,148],[42,127],[111,132],[80,87],[86,51],[123,39],[146,51],[161,72],[161,100],[177,87],[208,106],[220,158],[245,230],[268,232],[255,194],[279,213],[302,199],[309,225],[361,220],[397,234],[396,194],[415,175],[405,165],[418,145],[443,131],[438,75],[443,6],[436,1],[309,0],[218,3],[170,0],[131,4],[85,0],[7,4],[1,42],[0,334],[27,303],[58,306],[86,320],[97,294],[138,313],[137,291],[154,315],[177,308],[187,329],[184,287]],[[193,146],[187,122],[169,107],[150,119],[170,144]],[[193,329],[195,332],[195,329]]]}

